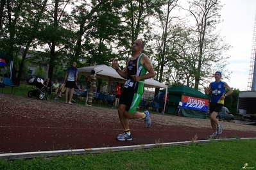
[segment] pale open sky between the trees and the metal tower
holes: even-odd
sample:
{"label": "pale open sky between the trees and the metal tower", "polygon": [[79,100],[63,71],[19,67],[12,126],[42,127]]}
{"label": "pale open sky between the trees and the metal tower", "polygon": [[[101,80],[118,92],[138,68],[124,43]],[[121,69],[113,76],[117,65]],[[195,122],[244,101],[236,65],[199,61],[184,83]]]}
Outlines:
{"label": "pale open sky between the trees and the metal tower", "polygon": [[[230,88],[246,91],[252,58],[253,32],[256,33],[256,27],[254,28],[256,0],[223,0],[221,4],[225,4],[219,11],[224,21],[217,29],[220,30],[223,40],[232,46],[226,52],[226,55],[230,56],[228,59],[230,64],[226,69],[232,73],[229,80],[223,79],[223,81]],[[225,75],[225,72],[223,74]]]}

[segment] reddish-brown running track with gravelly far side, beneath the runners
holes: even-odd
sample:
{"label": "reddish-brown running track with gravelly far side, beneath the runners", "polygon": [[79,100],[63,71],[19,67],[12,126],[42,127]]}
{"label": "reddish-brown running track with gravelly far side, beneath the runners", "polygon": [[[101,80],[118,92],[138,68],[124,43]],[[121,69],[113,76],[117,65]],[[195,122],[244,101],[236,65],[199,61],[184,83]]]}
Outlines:
{"label": "reddish-brown running track with gravelly far side, beneath the runners", "polygon": [[[0,101],[0,153],[191,141],[212,134],[210,120],[151,114],[151,127],[130,120],[133,140],[117,141],[117,134],[123,133],[117,109],[3,93]],[[223,138],[256,137],[256,126],[221,124]]]}

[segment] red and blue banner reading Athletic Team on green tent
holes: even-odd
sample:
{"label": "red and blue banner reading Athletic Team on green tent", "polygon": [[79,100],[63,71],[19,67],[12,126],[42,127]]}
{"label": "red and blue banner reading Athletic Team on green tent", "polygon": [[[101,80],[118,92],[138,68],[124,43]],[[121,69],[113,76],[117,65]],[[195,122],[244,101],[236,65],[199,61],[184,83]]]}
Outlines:
{"label": "red and blue banner reading Athletic Team on green tent", "polygon": [[189,97],[189,96],[182,95],[182,108],[185,108],[185,109],[192,109],[192,110],[207,112],[208,102],[209,100],[204,98]]}

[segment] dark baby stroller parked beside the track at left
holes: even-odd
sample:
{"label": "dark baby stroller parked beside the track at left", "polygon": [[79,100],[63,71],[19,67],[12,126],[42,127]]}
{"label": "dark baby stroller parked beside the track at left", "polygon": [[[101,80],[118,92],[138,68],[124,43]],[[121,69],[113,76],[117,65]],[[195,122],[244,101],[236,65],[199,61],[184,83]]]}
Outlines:
{"label": "dark baby stroller parked beside the track at left", "polygon": [[38,97],[40,100],[44,99],[44,96],[46,95],[44,91],[47,89],[47,87],[44,85],[43,79],[35,75],[31,75],[30,79],[28,79],[28,84],[37,88],[28,91],[28,97]]}

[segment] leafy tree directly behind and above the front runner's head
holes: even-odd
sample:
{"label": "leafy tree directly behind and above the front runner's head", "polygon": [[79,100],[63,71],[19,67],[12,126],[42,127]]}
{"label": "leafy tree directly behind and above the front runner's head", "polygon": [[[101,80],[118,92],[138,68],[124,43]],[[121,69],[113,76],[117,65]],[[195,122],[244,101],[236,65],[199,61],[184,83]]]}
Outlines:
{"label": "leafy tree directly behind and above the front runner's head", "polygon": [[124,64],[131,54],[131,44],[134,40],[140,38],[146,42],[147,47],[145,50],[146,54],[152,54],[151,46],[149,42],[153,39],[152,27],[154,24],[151,22],[151,18],[157,15],[159,9],[164,6],[165,1],[153,1],[153,0],[142,0],[142,1],[126,1],[123,12],[123,24],[127,27],[127,36],[123,39],[123,52],[121,55],[126,56],[124,58]]}

